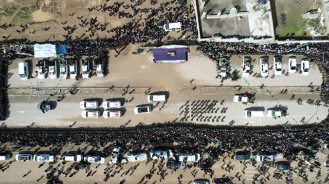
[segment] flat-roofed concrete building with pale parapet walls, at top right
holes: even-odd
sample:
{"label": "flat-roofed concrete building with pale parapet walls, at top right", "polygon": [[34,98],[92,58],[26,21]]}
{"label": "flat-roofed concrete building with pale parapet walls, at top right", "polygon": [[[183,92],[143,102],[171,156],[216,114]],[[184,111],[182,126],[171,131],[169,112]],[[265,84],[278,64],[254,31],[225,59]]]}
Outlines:
{"label": "flat-roofed concrete building with pale parapet walls, at top right", "polygon": [[193,0],[199,41],[274,43],[270,2]]}

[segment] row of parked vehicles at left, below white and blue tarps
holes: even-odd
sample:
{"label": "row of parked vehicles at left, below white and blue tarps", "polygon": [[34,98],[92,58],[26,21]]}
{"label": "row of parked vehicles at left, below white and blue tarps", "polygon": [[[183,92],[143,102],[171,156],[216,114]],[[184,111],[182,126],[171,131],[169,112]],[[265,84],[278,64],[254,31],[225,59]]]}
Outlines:
{"label": "row of parked vehicles at left, below white and blue tarps", "polygon": [[[60,63],[59,63],[60,62]],[[57,59],[49,60],[48,64],[45,60],[38,60],[36,64],[36,75],[39,79],[43,80],[46,78],[46,74],[49,73],[50,79],[57,79],[59,76],[61,78],[75,79],[78,75],[78,62],[79,60],[62,60]],[[47,66],[48,65],[48,66]],[[92,69],[90,69],[89,60],[82,60],[82,77],[90,78],[92,76]],[[59,67],[59,74],[58,74]],[[94,59],[94,70],[96,70],[96,75],[99,78],[104,77],[104,61],[99,58]],[[69,75],[68,75],[69,74]],[[19,75],[22,80],[29,79],[29,64],[28,62],[19,63]]]}

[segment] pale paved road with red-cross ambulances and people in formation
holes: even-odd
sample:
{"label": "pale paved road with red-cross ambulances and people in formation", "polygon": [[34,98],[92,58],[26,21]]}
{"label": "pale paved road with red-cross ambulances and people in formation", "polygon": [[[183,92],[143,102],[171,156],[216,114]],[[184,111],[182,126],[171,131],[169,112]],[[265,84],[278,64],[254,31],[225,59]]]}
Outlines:
{"label": "pale paved road with red-cross ambulances and people in formation", "polygon": [[[109,96],[92,97],[97,99],[99,104],[109,98]],[[326,107],[306,103],[308,99],[320,100],[318,94],[296,94],[293,100],[290,100],[291,97],[291,94],[260,95],[260,97],[254,100],[254,104],[243,105],[233,103],[232,95],[170,95],[168,103],[164,105],[160,103],[156,106],[156,104],[148,103],[145,95],[111,96],[111,98],[119,99],[123,102],[127,101],[123,103],[122,110],[124,114],[122,118],[104,119],[100,117],[98,119],[86,119],[81,117],[82,109],[79,107],[79,102],[89,99],[89,96],[66,96],[60,103],[54,102],[57,103],[56,109],[45,114],[36,109],[36,106],[43,99],[30,98],[28,96],[9,96],[9,118],[4,122],[7,126],[28,126],[34,122],[35,126],[58,127],[67,127],[74,122],[76,122],[75,127],[119,127],[168,121],[210,125],[229,125],[229,123],[233,123],[234,126],[273,126],[286,123],[298,125],[313,124],[314,122],[320,122],[327,116]],[[299,105],[296,102],[298,98],[303,99],[303,105]],[[50,97],[48,100],[56,101],[57,97]],[[208,105],[206,105],[205,101],[209,102]],[[215,103],[214,106],[211,106],[212,102]],[[150,114],[135,115],[133,110],[138,105],[151,105],[154,106],[154,110]],[[271,117],[243,117],[245,109],[256,108],[266,111],[268,108],[273,107],[287,109],[289,115],[277,119]],[[104,111],[103,108],[99,108],[99,110],[101,112]]]}

